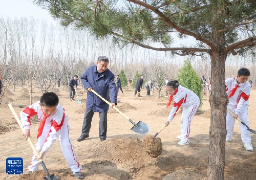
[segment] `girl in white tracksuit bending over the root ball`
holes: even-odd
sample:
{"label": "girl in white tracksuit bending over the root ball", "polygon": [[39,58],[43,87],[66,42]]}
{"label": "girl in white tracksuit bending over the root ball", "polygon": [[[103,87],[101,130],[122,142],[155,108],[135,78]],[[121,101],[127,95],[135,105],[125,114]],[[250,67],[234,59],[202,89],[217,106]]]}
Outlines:
{"label": "girl in white tracksuit bending over the root ball", "polygon": [[[178,145],[186,145],[189,140],[190,124],[200,105],[199,97],[189,89],[179,85],[178,81],[170,81],[166,85],[167,93],[170,95],[169,103],[174,101],[174,105],[168,116],[165,126],[169,125],[180,107],[183,108],[181,115],[181,136]],[[167,108],[166,107],[166,108]]]}

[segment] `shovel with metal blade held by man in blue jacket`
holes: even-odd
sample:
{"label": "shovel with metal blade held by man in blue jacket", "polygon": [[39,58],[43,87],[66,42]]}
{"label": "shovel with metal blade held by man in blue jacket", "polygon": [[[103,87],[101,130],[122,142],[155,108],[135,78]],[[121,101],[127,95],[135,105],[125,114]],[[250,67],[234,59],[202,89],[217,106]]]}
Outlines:
{"label": "shovel with metal blade held by man in blue jacket", "polygon": [[[96,93],[93,89],[91,89],[91,91],[97,95],[100,99],[102,99],[103,101],[105,101],[105,103],[109,104],[110,106],[112,106],[112,104],[105,100],[103,97],[101,97],[98,93]],[[129,120],[129,122],[131,122],[134,126],[131,128],[131,130],[133,130],[134,132],[137,132],[139,134],[147,134],[148,132],[150,132],[150,126],[148,126],[146,123],[139,121],[137,124],[129,119],[127,116],[125,116],[118,108],[116,108],[115,106],[113,106],[113,108],[120,113],[125,119]]]}

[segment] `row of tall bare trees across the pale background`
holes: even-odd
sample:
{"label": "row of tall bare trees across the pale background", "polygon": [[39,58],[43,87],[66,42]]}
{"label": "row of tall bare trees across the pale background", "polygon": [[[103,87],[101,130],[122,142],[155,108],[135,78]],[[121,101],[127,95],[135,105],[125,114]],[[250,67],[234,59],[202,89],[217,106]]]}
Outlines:
{"label": "row of tall bare trees across the pale background", "polygon": [[[15,91],[17,83],[24,85],[31,82],[31,90],[37,86],[42,91],[47,91],[49,85],[58,78],[61,78],[63,84],[67,84],[73,75],[81,76],[87,66],[94,64],[100,55],[111,59],[109,68],[115,74],[122,76],[125,73],[128,79],[134,79],[136,73],[144,74],[146,80],[154,79],[159,82],[159,87],[164,77],[177,79],[183,59],[136,45],[120,48],[117,42],[113,42],[115,39],[112,37],[96,39],[87,31],[49,25],[46,21],[34,18],[2,18],[0,76],[4,77],[3,90],[7,84],[12,84]],[[200,77],[210,77],[210,60],[207,56],[191,61]],[[247,66],[251,70],[250,78],[256,79],[253,57],[228,59],[226,64],[227,77],[236,76],[241,66]],[[32,80],[35,83],[32,84]]]}

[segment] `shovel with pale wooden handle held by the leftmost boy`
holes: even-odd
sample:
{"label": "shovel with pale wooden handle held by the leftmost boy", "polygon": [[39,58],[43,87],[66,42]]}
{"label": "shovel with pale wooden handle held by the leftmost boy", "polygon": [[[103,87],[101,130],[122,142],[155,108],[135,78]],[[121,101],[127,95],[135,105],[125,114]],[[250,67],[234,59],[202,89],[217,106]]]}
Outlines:
{"label": "shovel with pale wooden handle held by the leftmost boy", "polygon": [[[12,114],[13,114],[13,116],[15,117],[15,119],[16,119],[16,121],[17,121],[19,127],[20,127],[20,128],[22,129],[22,131],[24,132],[25,130],[24,130],[24,128],[23,128],[22,122],[20,122],[20,120],[19,120],[17,114],[15,113],[15,110],[14,110],[13,107],[12,107],[12,104],[9,103],[8,106],[9,106],[9,108],[11,109]],[[30,145],[31,148],[33,149],[34,153],[35,153],[36,156],[38,157],[38,156],[39,156],[39,153],[38,153],[37,149],[35,148],[34,144],[32,143],[30,137],[28,137],[27,140],[28,140],[28,142],[29,142],[29,145]],[[44,177],[45,180],[59,180],[59,178],[56,177],[54,174],[52,174],[52,175],[49,174],[49,171],[48,171],[48,169],[46,168],[46,165],[45,165],[44,161],[42,161],[41,158],[38,159],[38,161],[39,161],[40,164],[42,165],[42,168],[44,168],[44,170],[46,171],[46,177]]]}

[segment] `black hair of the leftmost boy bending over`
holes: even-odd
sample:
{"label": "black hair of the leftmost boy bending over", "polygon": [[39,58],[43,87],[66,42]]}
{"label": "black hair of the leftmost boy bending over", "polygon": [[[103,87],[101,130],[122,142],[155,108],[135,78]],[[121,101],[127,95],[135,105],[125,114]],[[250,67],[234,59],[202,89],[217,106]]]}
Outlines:
{"label": "black hair of the leftmost boy bending over", "polygon": [[53,93],[53,92],[47,92],[42,94],[41,98],[40,98],[40,104],[41,106],[57,106],[59,103],[59,98],[58,96]]}

